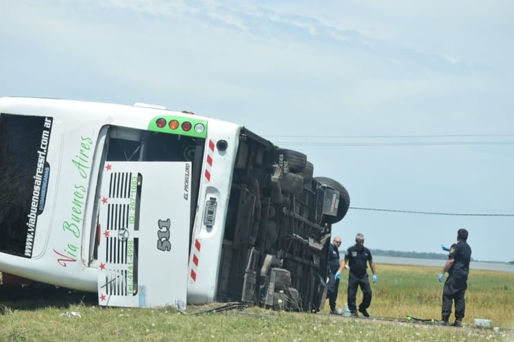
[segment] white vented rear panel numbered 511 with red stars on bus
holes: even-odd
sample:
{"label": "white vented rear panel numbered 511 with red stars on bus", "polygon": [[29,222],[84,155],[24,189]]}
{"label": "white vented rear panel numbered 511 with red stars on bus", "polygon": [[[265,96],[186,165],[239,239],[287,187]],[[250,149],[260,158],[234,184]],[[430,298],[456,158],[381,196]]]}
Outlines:
{"label": "white vented rear panel numbered 511 with red stars on bus", "polygon": [[99,192],[103,306],[186,308],[191,162],[106,161]]}

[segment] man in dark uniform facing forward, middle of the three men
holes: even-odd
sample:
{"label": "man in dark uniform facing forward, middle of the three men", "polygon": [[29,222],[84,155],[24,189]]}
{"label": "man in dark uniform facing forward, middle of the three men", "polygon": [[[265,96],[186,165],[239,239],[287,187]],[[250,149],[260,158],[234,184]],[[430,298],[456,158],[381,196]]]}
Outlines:
{"label": "man in dark uniform facing forward, middle of the three men", "polygon": [[356,306],[356,295],[357,289],[360,286],[360,290],[363,291],[363,302],[358,306],[358,311],[363,314],[364,317],[369,317],[367,308],[371,304],[371,285],[369,285],[369,279],[367,274],[367,263],[369,268],[373,272],[373,282],[377,282],[375,263],[369,249],[364,247],[364,235],[358,233],[355,237],[355,245],[348,248],[345,253],[345,261],[341,263],[341,267],[336,273],[336,278],[348,263],[350,266],[350,273],[348,274],[348,309],[353,317],[357,317],[357,306]]}

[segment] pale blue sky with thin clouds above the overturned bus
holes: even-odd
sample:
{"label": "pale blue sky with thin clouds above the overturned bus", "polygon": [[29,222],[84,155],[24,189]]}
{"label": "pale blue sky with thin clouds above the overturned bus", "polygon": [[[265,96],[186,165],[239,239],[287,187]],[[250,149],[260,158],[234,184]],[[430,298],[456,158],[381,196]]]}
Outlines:
{"label": "pale blue sky with thin clouds above the overturned bus", "polygon": [[[514,261],[514,2],[0,0],[0,96],[243,124],[339,181],[343,248]],[[450,214],[450,215],[442,215]],[[442,264],[441,264],[442,267]]]}

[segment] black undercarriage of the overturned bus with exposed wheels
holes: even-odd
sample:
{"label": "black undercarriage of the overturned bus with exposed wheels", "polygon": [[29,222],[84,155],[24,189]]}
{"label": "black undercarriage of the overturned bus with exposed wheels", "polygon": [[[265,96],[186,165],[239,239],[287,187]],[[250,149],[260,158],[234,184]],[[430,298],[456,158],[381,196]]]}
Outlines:
{"label": "black undercarriage of the overturned bus with exposed wheels", "polygon": [[231,189],[217,300],[319,311],[332,224],[350,205],[345,188],[313,178],[302,153],[243,129]]}

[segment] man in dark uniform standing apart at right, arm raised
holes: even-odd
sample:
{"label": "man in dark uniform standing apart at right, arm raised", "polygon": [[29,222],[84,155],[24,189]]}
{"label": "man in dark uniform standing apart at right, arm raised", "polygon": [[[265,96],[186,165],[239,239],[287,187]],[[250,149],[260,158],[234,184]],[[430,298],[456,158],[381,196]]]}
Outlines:
{"label": "man in dark uniform standing apart at right, arm raised", "polygon": [[464,298],[467,289],[467,275],[469,274],[469,261],[471,260],[471,247],[467,244],[467,231],[463,228],[457,231],[457,241],[450,247],[450,254],[443,271],[439,274],[442,282],[444,274],[450,274],[444,283],[443,306],[441,308],[441,324],[448,326],[448,319],[452,313],[452,304],[455,302],[455,322],[453,326],[460,327],[466,310]]}

